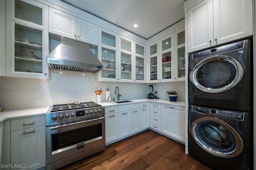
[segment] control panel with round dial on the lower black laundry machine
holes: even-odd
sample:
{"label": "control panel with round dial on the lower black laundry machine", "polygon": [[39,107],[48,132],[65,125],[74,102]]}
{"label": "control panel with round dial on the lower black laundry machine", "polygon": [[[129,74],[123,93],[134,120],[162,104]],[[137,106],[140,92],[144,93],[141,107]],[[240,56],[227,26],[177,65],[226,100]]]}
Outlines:
{"label": "control panel with round dial on the lower black laundry machine", "polygon": [[203,106],[192,106],[192,111],[199,114],[209,115],[211,117],[235,119],[239,121],[244,120],[243,111],[232,111],[224,109],[209,108]]}

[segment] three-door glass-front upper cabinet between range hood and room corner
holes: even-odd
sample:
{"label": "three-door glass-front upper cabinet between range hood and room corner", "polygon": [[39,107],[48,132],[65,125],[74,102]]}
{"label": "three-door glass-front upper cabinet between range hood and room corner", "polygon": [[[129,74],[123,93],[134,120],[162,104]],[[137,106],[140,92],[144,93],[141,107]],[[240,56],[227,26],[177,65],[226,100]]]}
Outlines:
{"label": "three-door glass-front upper cabinet between range hood and room corner", "polygon": [[97,81],[146,82],[145,45],[99,27],[98,58],[103,64]]}

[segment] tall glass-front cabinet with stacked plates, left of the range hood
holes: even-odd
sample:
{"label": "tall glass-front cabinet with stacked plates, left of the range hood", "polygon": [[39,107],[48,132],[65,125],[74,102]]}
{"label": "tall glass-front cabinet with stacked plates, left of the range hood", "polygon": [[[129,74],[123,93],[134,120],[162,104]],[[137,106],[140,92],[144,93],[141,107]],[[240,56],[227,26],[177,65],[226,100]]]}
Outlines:
{"label": "tall glass-front cabinet with stacked plates, left of the range hood", "polygon": [[49,78],[48,6],[35,1],[6,1],[6,75]]}

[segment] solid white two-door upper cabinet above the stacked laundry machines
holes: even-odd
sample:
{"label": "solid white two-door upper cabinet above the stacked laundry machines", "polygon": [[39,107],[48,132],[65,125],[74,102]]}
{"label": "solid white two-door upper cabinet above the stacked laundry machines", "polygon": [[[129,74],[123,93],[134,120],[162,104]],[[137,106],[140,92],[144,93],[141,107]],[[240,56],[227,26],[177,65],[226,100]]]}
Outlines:
{"label": "solid white two-door upper cabinet above the stacked laundry machines", "polygon": [[188,53],[252,35],[252,0],[203,0],[186,11]]}

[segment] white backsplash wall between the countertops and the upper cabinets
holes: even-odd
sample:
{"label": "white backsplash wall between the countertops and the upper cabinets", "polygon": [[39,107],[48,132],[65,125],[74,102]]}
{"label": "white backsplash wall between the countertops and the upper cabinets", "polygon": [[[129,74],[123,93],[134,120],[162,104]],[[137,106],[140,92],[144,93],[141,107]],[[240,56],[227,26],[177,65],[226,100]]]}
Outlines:
{"label": "white backsplash wall between the countertops and the upper cabinets", "polygon": [[[50,70],[50,80],[28,78],[0,78],[0,102],[4,110],[25,109],[32,107],[52,106],[53,104],[79,102],[96,102],[94,90],[104,90],[105,100],[107,88],[116,98],[115,87],[120,89],[120,100],[146,98],[149,93],[148,84],[95,82],[95,74]],[[175,90],[185,96],[185,82],[154,83],[161,99],[168,99],[166,91]],[[39,98],[39,103],[30,103],[30,99]],[[179,97],[183,101],[183,97]],[[178,100],[179,100],[178,98]]]}

